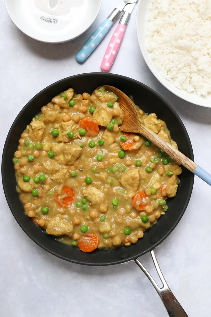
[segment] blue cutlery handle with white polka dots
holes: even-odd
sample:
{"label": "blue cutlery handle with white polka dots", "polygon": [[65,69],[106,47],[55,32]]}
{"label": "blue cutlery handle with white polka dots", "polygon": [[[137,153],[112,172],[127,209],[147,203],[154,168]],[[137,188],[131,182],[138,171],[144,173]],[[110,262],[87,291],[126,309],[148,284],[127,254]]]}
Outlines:
{"label": "blue cutlery handle with white polka dots", "polygon": [[83,62],[94,51],[97,45],[102,41],[109,29],[112,27],[113,22],[106,18],[98,28],[92,33],[88,40],[84,43],[82,48],[78,51],[76,59],[79,62]]}

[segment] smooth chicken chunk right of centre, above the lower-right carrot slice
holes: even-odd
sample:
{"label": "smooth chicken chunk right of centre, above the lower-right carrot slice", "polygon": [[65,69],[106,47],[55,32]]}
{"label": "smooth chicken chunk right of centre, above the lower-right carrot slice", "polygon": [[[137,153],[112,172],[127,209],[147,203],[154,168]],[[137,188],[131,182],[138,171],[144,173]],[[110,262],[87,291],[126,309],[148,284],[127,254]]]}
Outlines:
{"label": "smooth chicken chunk right of centre, above the lower-right carrot slice", "polygon": [[139,186],[139,180],[138,168],[131,168],[122,174],[120,183],[124,189],[136,192]]}

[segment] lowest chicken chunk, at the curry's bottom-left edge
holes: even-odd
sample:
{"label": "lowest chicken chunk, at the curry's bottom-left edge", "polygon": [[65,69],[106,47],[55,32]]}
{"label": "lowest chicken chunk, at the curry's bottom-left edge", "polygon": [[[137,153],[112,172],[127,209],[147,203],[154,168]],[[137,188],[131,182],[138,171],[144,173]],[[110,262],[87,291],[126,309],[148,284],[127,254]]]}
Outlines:
{"label": "lowest chicken chunk, at the curry's bottom-left edge", "polygon": [[46,233],[53,236],[71,235],[73,232],[73,224],[68,222],[65,217],[56,216],[47,223]]}

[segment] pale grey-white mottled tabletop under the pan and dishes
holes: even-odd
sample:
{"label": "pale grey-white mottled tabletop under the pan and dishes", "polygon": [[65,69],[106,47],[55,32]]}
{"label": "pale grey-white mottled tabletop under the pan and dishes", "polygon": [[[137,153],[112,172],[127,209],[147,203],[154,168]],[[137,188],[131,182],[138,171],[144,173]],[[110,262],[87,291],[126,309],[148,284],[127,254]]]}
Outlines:
{"label": "pale grey-white mottled tabletop under the pan and dishes", "polygon": [[[70,42],[47,44],[17,29],[4,2],[0,2],[1,156],[9,127],[35,94],[70,75],[100,72],[111,33],[84,64],[79,64],[75,55],[118,4],[119,0],[102,0],[96,20],[83,35]],[[135,18],[136,10],[110,72],[143,82],[161,94],[181,117],[192,142],[195,162],[211,172],[211,108],[183,101],[157,81],[142,58]],[[210,192],[210,186],[195,177],[192,197],[182,220],[156,248],[166,281],[189,317],[210,316]],[[167,316],[152,284],[133,261],[126,265],[91,267],[50,255],[16,223],[2,184],[0,198],[0,316]],[[139,260],[155,275],[150,254]]]}

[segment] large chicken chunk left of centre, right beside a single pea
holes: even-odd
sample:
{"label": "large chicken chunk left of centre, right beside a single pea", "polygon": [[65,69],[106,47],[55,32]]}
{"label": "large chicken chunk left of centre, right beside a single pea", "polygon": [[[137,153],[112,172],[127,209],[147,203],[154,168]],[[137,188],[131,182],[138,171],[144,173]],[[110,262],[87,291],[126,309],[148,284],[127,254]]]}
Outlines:
{"label": "large chicken chunk left of centre, right beside a single pea", "polygon": [[60,165],[71,165],[81,154],[81,147],[77,142],[72,141],[69,144],[58,143],[52,144],[54,158]]}

